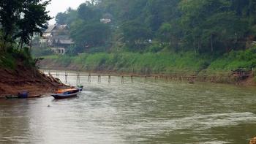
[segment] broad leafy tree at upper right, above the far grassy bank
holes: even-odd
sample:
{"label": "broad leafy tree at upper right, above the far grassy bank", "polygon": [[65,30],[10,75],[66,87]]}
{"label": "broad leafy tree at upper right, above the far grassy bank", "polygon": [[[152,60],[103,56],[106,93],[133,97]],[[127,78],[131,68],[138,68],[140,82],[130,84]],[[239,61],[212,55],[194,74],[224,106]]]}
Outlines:
{"label": "broad leafy tree at upper right, above the far grassy bank", "polygon": [[232,10],[228,0],[184,0],[180,9],[184,39],[188,45],[197,45],[197,50],[214,52],[215,48],[221,51],[225,48],[228,51],[246,32],[245,23]]}

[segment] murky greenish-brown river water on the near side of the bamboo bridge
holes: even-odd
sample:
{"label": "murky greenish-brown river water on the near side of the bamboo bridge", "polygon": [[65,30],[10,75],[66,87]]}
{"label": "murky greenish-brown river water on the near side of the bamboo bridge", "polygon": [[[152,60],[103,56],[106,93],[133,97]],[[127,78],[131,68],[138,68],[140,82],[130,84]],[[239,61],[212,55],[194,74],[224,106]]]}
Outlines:
{"label": "murky greenish-brown river water on the near side of the bamboo bridge", "polygon": [[255,88],[86,80],[72,99],[1,99],[0,143],[241,144],[256,134]]}

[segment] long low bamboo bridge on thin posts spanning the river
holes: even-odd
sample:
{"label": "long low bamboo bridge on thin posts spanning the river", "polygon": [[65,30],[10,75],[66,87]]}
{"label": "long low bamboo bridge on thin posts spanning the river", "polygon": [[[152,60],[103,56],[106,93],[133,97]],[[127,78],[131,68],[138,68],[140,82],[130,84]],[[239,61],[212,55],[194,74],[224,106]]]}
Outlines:
{"label": "long low bamboo bridge on thin posts spanning the river", "polygon": [[[118,73],[118,72],[63,72],[63,71],[52,71],[52,70],[41,70],[45,75],[53,75],[59,78],[59,76],[64,77],[65,83],[67,83],[69,77],[76,77],[77,83],[80,83],[81,77],[87,77],[88,82],[91,82],[91,77],[97,77],[97,82],[102,82],[102,77],[108,77],[108,83],[111,83],[111,77],[120,77],[120,82],[124,83],[124,80],[128,80],[131,83],[134,83],[135,77],[140,77],[144,79],[146,83],[149,79],[154,82],[158,82],[158,80],[168,81],[183,81],[187,83],[195,83],[198,82],[211,82],[211,83],[234,83],[239,80],[243,80],[250,75],[253,75],[252,72],[227,72],[225,74],[220,75],[181,75],[177,73],[171,74],[135,74],[135,73]],[[126,77],[126,78],[125,78]],[[128,77],[128,79],[127,79]]]}

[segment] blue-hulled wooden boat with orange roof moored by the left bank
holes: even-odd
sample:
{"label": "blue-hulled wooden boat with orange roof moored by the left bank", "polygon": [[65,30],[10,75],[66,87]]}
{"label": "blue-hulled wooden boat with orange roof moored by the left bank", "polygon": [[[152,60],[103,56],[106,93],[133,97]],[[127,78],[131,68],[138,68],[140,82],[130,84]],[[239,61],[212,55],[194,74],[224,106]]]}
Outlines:
{"label": "blue-hulled wooden boat with orange roof moored by the left bank", "polygon": [[54,99],[67,99],[78,96],[79,92],[79,88],[61,89],[56,91],[55,94],[51,94],[51,96],[53,96]]}

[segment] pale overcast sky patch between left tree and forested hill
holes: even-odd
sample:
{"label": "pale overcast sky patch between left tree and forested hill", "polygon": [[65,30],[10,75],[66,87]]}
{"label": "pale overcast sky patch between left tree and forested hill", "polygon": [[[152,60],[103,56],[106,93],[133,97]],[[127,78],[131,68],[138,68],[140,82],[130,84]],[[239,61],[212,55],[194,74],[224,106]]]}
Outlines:
{"label": "pale overcast sky patch between left tree and forested hill", "polygon": [[[65,12],[68,7],[77,9],[80,4],[86,0],[52,0],[48,5],[49,15],[55,17],[58,12]],[[54,24],[55,20],[50,20],[50,24]]]}

